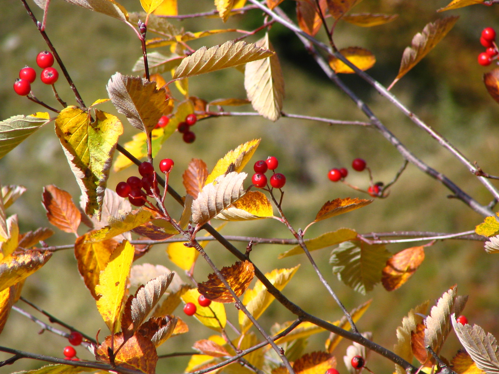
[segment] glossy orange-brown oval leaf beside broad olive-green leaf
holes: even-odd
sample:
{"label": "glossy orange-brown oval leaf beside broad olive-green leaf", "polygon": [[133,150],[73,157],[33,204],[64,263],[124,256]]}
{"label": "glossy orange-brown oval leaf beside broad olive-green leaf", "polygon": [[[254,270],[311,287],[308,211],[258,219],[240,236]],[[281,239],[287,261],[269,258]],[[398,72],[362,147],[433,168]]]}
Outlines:
{"label": "glossy orange-brown oval leaf beside broad olive-green leaf", "polygon": [[387,291],[402,286],[418,269],[425,259],[423,246],[411,247],[393,255],[386,262],[381,282]]}

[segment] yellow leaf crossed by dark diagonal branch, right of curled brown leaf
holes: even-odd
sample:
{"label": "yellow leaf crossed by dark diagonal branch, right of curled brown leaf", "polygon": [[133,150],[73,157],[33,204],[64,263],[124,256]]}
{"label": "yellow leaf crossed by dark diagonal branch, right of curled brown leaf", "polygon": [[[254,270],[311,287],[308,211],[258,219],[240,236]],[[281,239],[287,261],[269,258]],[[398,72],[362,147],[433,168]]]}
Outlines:
{"label": "yellow leaf crossed by dark diagonal branch, right of curled brown leaf", "polygon": [[[266,273],[265,277],[275,288],[281,291],[299,267],[300,265],[291,269],[274,269],[270,273]],[[243,304],[251,315],[255,319],[258,319],[272,301],[274,301],[274,297],[270,295],[265,286],[258,280],[253,289],[246,290]],[[242,333],[246,333],[252,326],[250,319],[242,311],[239,311],[239,325],[241,326]]]}

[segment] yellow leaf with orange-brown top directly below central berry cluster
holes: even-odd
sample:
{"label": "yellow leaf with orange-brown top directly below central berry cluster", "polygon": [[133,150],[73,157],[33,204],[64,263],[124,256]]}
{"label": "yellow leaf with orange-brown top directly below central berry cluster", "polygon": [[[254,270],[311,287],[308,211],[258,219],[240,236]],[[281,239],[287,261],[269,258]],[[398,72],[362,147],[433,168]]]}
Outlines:
{"label": "yellow leaf with orange-brown top directly below central berry cluster", "polygon": [[260,191],[248,191],[232,206],[222,210],[215,218],[227,221],[246,221],[272,218],[272,204]]}

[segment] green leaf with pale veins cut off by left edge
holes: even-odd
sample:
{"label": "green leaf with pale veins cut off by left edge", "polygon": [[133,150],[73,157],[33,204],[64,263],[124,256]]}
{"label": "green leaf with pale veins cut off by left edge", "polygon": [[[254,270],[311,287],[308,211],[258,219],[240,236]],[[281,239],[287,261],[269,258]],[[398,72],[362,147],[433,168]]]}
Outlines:
{"label": "green leaf with pale veins cut off by left edge", "polygon": [[0,159],[49,122],[45,116],[12,116],[0,122]]}

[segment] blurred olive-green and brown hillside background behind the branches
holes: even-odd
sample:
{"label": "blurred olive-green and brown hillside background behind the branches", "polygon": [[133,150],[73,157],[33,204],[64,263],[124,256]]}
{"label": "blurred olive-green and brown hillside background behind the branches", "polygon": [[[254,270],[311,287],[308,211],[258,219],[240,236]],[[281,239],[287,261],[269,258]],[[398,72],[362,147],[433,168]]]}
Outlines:
{"label": "blurred olive-green and brown hillside background behind the branches", "polygon": [[[140,10],[138,0],[121,2],[129,11]],[[41,19],[40,9],[29,3],[36,16]],[[439,1],[410,0],[365,0],[355,12],[398,13],[394,22],[373,28],[361,28],[339,22],[335,31],[338,47],[362,46],[370,49],[377,57],[376,65],[369,73],[382,84],[388,85],[397,75],[404,48],[410,44],[413,35],[424,25],[439,16],[457,14],[461,18],[449,35],[412,71],[392,89],[393,93],[429,125],[443,134],[471,161],[477,161],[488,173],[499,174],[498,118],[499,106],[488,95],[482,82],[484,68],[477,63],[482,51],[479,43],[481,30],[486,26],[498,26],[499,7],[474,5],[438,14],[436,9],[447,4]],[[295,1],[284,0],[282,8],[295,19]],[[179,1],[180,13],[192,13],[213,9],[208,0]],[[24,65],[34,66],[36,54],[44,50],[45,44],[20,1],[6,1],[0,12],[0,118],[17,114],[31,114],[42,110],[25,98],[14,94],[12,83]],[[227,23],[219,18],[199,18],[185,21],[172,20],[177,26],[191,31],[237,27],[251,30],[261,24],[258,10],[246,15],[232,17]],[[135,34],[122,22],[72,6],[61,0],[50,4],[47,34],[63,59],[69,74],[80,91],[85,103],[106,98],[105,85],[116,71],[131,74],[131,67],[141,56],[140,43]],[[151,36],[151,35],[150,35]],[[194,48],[212,46],[240,34],[221,34],[192,42]],[[255,41],[260,32],[248,38]],[[324,40],[321,30],[319,37]],[[303,50],[294,34],[275,24],[270,30],[284,74],[286,98],[283,110],[286,113],[323,116],[331,119],[366,120],[345,94],[338,90],[315,65]],[[166,77],[168,80],[168,77]],[[416,126],[387,100],[377,94],[360,78],[342,75],[341,78],[373,109],[382,122],[419,158],[433,168],[446,174],[480,203],[492,199],[489,192],[476,177],[452,155],[439,147],[437,142]],[[236,69],[205,74],[190,79],[190,94],[205,100],[216,98],[245,98],[243,75]],[[56,84],[61,97],[68,103],[75,103],[71,91],[59,78]],[[59,107],[50,90],[37,79],[32,85],[35,95],[48,104]],[[178,94],[175,91],[174,93]],[[102,110],[117,114],[111,104],[102,105]],[[233,108],[227,107],[227,110]],[[250,111],[250,106],[235,108]],[[125,134],[121,144],[128,141],[136,130],[125,123]],[[75,201],[79,188],[70,172],[59,142],[49,124],[29,137],[20,146],[0,160],[0,180],[3,185],[21,184],[27,192],[8,209],[8,214],[18,214],[21,232],[49,227],[44,209],[40,204],[42,187],[54,184],[69,191]],[[283,207],[295,228],[305,227],[313,220],[321,205],[336,197],[366,197],[343,184],[333,184],[327,179],[327,172],[333,167],[349,167],[352,159],[362,157],[373,171],[375,181],[389,182],[402,165],[402,158],[396,150],[373,129],[328,126],[324,123],[282,118],[272,123],[256,117],[232,117],[201,121],[195,127],[197,140],[185,144],[179,134],[174,134],[163,146],[158,157],[170,157],[175,161],[171,185],[183,193],[182,173],[192,158],[201,158],[209,168],[231,149],[253,138],[261,138],[261,144],[253,161],[268,155],[279,159],[279,172],[287,177],[284,188]],[[250,163],[250,165],[252,165]],[[246,168],[251,173],[250,165]],[[109,187],[138,175],[135,168],[112,174]],[[366,173],[350,170],[348,182],[367,188]],[[400,180],[391,189],[386,199],[376,199],[368,207],[334,217],[313,225],[307,232],[311,238],[339,227],[350,227],[360,233],[392,230],[421,230],[459,232],[471,230],[483,217],[462,202],[449,199],[449,190],[409,165]],[[173,199],[168,206],[180,214]],[[83,228],[82,228],[83,229]],[[82,231],[83,232],[83,231]],[[276,220],[261,220],[243,223],[229,223],[225,234],[290,238],[284,225]],[[50,245],[72,243],[74,237],[58,231],[47,240]],[[236,243],[243,250],[244,243]],[[397,252],[410,245],[390,245],[391,252]],[[163,264],[172,270],[183,272],[169,262],[165,245],[154,249],[138,262]],[[334,321],[341,313],[334,301],[327,295],[313,273],[304,255],[277,260],[277,254],[288,249],[279,245],[254,246],[253,261],[263,270],[301,267],[289,285],[284,289],[293,302],[308,312]],[[481,325],[486,331],[499,336],[498,262],[493,255],[483,250],[483,244],[470,241],[449,240],[439,242],[426,249],[426,259],[410,281],[391,293],[378,285],[367,296],[355,293],[339,282],[331,273],[328,264],[331,248],[313,252],[313,256],[326,279],[338,293],[341,300],[351,309],[373,298],[373,303],[360,320],[361,331],[372,331],[374,341],[391,349],[396,343],[395,330],[410,308],[431,300],[433,304],[442,293],[458,284],[460,294],[470,295],[465,314],[472,323]],[[222,246],[211,243],[207,251],[220,267],[232,264],[235,259]],[[206,279],[208,266],[199,261],[195,277]],[[23,296],[56,317],[74,325],[85,333],[95,336],[105,325],[95,307],[90,293],[85,289],[77,272],[76,261],[70,250],[60,251],[41,270],[30,276],[23,289]],[[33,312],[27,305],[18,305]],[[236,310],[227,305],[228,315],[237,323]],[[185,317],[181,309],[177,311]],[[37,314],[36,314],[37,315]],[[37,315],[40,317],[39,315]],[[267,329],[274,322],[292,320],[292,315],[274,303],[261,317]],[[168,341],[159,348],[159,354],[189,350],[196,339],[212,334],[194,319],[185,318],[191,331]],[[11,312],[0,344],[29,352],[62,357],[67,341],[48,332],[38,335],[36,324]],[[308,352],[323,349],[327,333],[318,334],[310,340]],[[347,342],[337,349],[338,368],[345,373],[342,355]],[[459,342],[451,334],[443,354],[452,358],[459,348]],[[81,359],[92,356],[78,348]],[[9,355],[0,354],[0,360]],[[181,373],[187,358],[163,359],[157,367],[158,373]],[[38,368],[39,362],[21,360],[9,367],[0,368],[0,373]],[[371,355],[369,365],[375,373],[391,372],[393,365],[378,355]]]}

